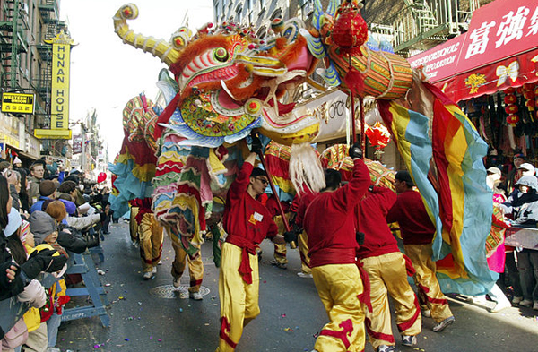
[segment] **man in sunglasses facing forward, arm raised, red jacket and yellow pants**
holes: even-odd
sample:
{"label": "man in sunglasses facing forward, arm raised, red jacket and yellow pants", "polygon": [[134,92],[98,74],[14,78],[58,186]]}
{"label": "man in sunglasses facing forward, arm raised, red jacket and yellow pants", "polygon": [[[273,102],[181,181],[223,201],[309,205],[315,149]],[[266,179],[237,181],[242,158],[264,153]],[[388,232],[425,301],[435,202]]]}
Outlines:
{"label": "man in sunglasses facing forward, arm raised, red jacket and yellow pants", "polygon": [[274,243],[284,243],[284,237],[277,235],[278,228],[271,214],[256,201],[256,197],[264,193],[268,178],[264,170],[254,168],[261,142],[253,143],[252,150],[239,176],[230,185],[222,219],[228,236],[222,245],[219,276],[221,332],[218,352],[234,351],[243,327],[260,313],[257,245],[265,237]]}

